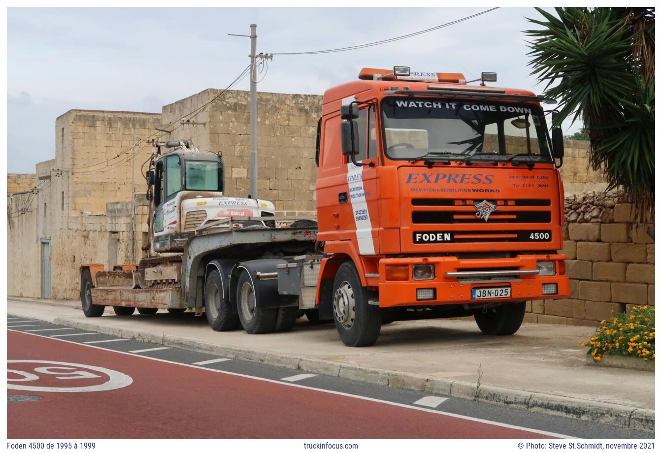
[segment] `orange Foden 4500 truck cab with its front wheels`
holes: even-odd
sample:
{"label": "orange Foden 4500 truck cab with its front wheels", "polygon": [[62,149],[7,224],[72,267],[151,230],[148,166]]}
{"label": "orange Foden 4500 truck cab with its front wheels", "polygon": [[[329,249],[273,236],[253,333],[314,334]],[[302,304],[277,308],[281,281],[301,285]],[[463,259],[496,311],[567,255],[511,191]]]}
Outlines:
{"label": "orange Foden 4500 truck cab with its front wheels", "polygon": [[[324,93],[318,288],[334,280],[336,326],[350,343],[369,336],[350,335],[357,284],[373,317],[475,313],[493,335],[520,327],[524,301],[568,296],[566,257],[557,252],[561,131],[550,139],[534,93],[484,82],[364,68],[359,80]],[[355,277],[344,286],[335,281],[342,266]]]}

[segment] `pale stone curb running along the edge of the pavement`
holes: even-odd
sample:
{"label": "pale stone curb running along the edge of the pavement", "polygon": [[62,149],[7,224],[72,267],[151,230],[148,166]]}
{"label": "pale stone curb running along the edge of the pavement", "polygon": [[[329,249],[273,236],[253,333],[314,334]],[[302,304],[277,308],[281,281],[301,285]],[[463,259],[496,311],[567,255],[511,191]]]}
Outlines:
{"label": "pale stone curb running along the edge of the pavement", "polygon": [[330,360],[314,358],[298,358],[286,354],[273,354],[271,352],[258,352],[249,349],[225,347],[205,341],[189,340],[171,335],[146,334],[130,329],[105,327],[75,321],[64,317],[56,317],[53,323],[75,327],[84,330],[107,333],[117,337],[136,339],[158,345],[183,347],[187,349],[202,350],[230,358],[251,360],[269,365],[283,366],[294,370],[301,370],[314,374],[338,376],[362,382],[371,382],[381,386],[401,388],[406,390],[425,391],[446,397],[483,401],[528,409],[534,412],[560,415],[572,419],[606,423],[617,427],[638,429],[643,431],[655,430],[655,410],[642,409],[613,403],[602,403],[587,399],[571,398],[547,393],[537,393],[524,390],[508,389],[489,385],[479,385],[472,382],[454,381],[444,378],[430,378],[422,374],[388,371],[381,368],[371,368]]}

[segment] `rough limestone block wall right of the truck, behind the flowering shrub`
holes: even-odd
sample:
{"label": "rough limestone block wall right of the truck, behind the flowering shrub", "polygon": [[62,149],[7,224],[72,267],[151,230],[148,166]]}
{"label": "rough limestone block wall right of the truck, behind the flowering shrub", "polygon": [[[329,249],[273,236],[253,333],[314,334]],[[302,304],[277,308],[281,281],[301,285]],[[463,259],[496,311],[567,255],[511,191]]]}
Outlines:
{"label": "rough limestone block wall right of the truck, behind the flowering shrub", "polygon": [[632,205],[618,192],[569,196],[565,206],[570,297],[528,302],[525,321],[596,325],[612,311],[655,305],[652,225],[635,224]]}

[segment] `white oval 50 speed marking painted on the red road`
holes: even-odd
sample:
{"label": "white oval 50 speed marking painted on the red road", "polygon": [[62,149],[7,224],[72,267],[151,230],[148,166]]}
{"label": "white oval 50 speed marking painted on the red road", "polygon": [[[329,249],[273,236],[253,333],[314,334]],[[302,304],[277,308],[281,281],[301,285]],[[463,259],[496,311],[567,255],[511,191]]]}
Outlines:
{"label": "white oval 50 speed marking painted on the red road", "polygon": [[[34,364],[32,372],[25,370],[11,370],[9,364]],[[29,368],[29,367],[28,367]],[[10,374],[18,374],[21,378],[10,378]],[[27,386],[23,382],[35,382],[41,375],[56,375],[56,379],[103,379],[101,384],[79,387],[45,387]],[[30,391],[103,391],[116,390],[129,386],[133,382],[130,376],[101,366],[82,365],[70,362],[53,362],[51,360],[7,360],[7,388],[11,390]]]}

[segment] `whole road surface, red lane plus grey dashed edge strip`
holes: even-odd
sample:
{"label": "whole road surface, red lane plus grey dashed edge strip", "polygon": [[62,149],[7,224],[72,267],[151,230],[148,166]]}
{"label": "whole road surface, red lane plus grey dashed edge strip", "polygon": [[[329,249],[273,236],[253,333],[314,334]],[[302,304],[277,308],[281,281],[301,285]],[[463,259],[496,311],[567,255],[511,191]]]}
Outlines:
{"label": "whole road surface, red lane plus grey dashed edge strip", "polygon": [[7,436],[652,438],[7,317]]}

